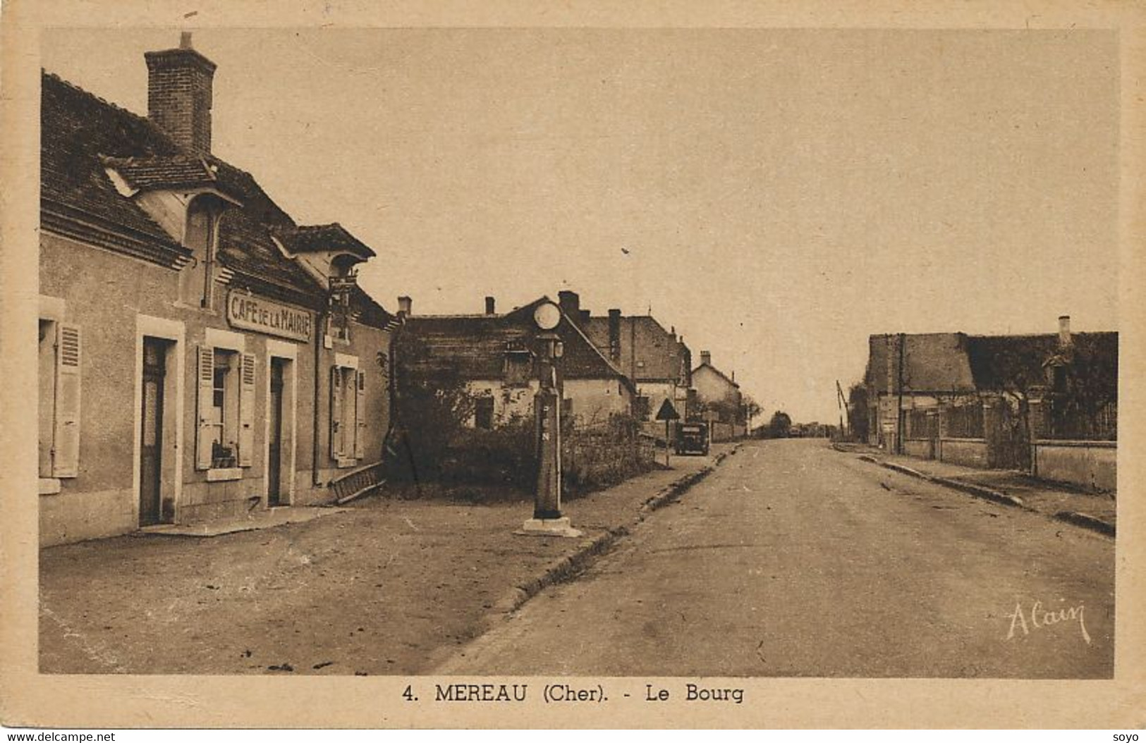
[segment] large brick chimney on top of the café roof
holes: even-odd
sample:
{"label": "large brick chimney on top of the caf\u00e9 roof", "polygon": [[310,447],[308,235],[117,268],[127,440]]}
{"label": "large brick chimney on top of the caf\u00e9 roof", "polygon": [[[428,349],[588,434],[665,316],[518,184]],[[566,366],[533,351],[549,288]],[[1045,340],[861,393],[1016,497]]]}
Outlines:
{"label": "large brick chimney on top of the caf\u00e9 roof", "polygon": [[195,155],[211,155],[211,82],[215,64],[191,48],[185,31],[178,49],[147,52],[147,118]]}

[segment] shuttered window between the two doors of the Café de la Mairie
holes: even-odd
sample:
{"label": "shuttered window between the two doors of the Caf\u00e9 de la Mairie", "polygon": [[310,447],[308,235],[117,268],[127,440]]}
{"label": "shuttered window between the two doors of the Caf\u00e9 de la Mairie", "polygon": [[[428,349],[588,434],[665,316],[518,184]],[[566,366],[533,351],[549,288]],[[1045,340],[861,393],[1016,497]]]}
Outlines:
{"label": "shuttered window between the two doors of the Caf\u00e9 de la Mairie", "polygon": [[250,467],[254,453],[253,354],[201,347],[196,468]]}

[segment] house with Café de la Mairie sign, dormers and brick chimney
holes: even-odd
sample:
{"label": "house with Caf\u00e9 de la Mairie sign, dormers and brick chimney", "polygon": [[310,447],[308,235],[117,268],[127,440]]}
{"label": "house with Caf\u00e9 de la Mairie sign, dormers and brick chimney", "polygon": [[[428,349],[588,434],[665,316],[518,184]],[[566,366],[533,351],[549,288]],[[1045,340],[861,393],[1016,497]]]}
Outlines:
{"label": "house with Caf\u00e9 de la Mairie sign, dormers and brick chimney", "polygon": [[329,500],[388,427],[374,252],[212,152],[190,34],[146,62],[147,117],[41,78],[44,544]]}

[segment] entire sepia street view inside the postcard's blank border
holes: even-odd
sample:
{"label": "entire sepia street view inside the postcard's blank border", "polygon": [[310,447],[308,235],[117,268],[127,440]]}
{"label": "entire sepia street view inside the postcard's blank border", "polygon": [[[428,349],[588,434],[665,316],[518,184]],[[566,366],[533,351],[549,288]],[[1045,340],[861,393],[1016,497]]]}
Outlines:
{"label": "entire sepia street view inside the postcard's blank border", "polygon": [[41,673],[1113,677],[1107,37],[55,34]]}

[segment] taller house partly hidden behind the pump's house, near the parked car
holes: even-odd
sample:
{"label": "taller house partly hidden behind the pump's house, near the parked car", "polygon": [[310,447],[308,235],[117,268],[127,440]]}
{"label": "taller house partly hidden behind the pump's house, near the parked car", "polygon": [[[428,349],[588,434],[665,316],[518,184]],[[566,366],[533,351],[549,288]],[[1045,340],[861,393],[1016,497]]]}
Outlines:
{"label": "taller house partly hidden behind the pump's house, near the parked car", "polygon": [[652,315],[622,316],[620,309],[592,317],[581,309],[575,292],[563,291],[558,297],[563,311],[578,321],[597,350],[636,385],[634,414],[651,433],[664,432],[653,418],[666,400],[685,418],[692,353],[676,329],[666,330]]}

